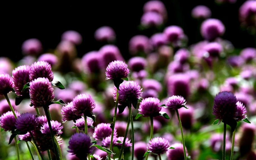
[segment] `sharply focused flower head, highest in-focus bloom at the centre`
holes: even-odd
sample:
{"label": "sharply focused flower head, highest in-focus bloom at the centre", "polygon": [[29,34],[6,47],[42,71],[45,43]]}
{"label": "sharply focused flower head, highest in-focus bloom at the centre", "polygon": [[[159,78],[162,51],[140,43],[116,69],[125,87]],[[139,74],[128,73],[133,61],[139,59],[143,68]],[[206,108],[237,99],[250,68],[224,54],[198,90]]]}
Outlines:
{"label": "sharply focused flower head, highest in-focus bloom at the centre", "polygon": [[127,78],[130,73],[127,64],[119,60],[109,63],[106,70],[107,79]]}

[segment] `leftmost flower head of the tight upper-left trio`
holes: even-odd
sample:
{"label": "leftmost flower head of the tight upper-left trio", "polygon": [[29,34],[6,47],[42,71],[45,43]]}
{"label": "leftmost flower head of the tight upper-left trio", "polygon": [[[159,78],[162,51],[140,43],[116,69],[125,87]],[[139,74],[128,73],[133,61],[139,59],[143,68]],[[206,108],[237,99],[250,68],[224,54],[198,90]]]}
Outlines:
{"label": "leftmost flower head of the tight upper-left trio", "polygon": [[[24,85],[30,82],[29,70],[30,70],[30,67],[28,65],[19,66],[15,68],[15,70],[13,70],[13,87],[14,87],[15,93],[18,96],[23,95],[21,91]],[[28,93],[28,90],[27,90],[27,93]]]}

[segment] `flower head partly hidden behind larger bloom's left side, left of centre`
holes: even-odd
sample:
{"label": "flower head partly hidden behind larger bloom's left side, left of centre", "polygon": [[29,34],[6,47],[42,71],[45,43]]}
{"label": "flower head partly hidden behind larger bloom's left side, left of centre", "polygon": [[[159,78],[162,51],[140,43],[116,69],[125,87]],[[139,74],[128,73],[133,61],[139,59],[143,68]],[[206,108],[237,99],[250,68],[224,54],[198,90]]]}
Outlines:
{"label": "flower head partly hidden behind larger bloom's left side, left of centre", "polygon": [[73,102],[68,103],[68,105],[63,106],[61,109],[61,116],[62,116],[62,121],[76,121],[77,119],[81,118],[82,114],[76,115],[75,112],[72,111],[73,108]]}

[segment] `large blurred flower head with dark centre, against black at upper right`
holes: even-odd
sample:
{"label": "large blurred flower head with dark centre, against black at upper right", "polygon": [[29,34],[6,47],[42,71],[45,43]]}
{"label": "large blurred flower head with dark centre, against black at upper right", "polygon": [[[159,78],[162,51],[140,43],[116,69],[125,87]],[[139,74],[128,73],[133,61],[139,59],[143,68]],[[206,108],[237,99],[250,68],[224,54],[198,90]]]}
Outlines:
{"label": "large blurred flower head with dark centre, against black at upper right", "polygon": [[205,40],[213,41],[225,32],[225,26],[219,19],[206,19],[201,25],[201,35]]}

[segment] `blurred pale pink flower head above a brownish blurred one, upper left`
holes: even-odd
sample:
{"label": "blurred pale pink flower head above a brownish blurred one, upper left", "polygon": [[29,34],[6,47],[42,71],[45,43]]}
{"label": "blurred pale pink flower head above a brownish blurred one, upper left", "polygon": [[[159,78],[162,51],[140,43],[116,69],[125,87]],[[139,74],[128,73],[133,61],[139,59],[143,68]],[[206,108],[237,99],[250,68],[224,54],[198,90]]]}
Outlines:
{"label": "blurred pale pink flower head above a brownish blurred one, upper left", "polygon": [[80,35],[80,33],[78,33],[77,31],[70,30],[70,31],[65,31],[61,35],[61,40],[69,41],[69,42],[73,43],[74,45],[80,45],[83,41],[83,38]]}

